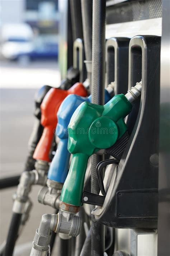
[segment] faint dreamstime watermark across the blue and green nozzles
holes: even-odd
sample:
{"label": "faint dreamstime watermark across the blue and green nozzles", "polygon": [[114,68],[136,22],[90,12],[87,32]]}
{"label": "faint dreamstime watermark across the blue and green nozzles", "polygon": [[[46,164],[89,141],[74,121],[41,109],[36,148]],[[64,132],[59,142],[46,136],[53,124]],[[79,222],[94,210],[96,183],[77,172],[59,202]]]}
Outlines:
{"label": "faint dreamstime watermark across the blue and green nozzles", "polygon": [[[91,134],[99,134],[99,135],[108,135],[108,134],[114,134],[115,132],[115,128],[107,128],[107,127],[101,127],[101,123],[100,122],[96,122],[95,124],[96,127],[91,127]],[[53,129],[53,133],[56,134],[80,134],[80,135],[84,135],[84,134],[88,134],[89,133],[90,128],[85,129],[85,128],[77,128],[77,129],[70,129],[70,131],[68,132],[67,128],[62,129],[61,126],[57,125],[57,129]]]}

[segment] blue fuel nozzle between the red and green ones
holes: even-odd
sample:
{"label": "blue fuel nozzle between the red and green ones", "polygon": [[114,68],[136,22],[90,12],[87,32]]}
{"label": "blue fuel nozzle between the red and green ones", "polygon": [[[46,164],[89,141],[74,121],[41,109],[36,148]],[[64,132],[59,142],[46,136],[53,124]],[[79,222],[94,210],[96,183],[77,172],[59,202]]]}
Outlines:
{"label": "blue fuel nozzle between the red and green ones", "polygon": [[[105,89],[105,103],[111,99],[110,94]],[[91,102],[91,95],[84,98],[75,94],[69,95],[63,100],[58,109],[56,126],[56,136],[60,138],[57,151],[48,171],[48,179],[58,183],[64,183],[69,171],[70,152],[67,149],[69,134],[67,127],[75,110],[83,102]]]}

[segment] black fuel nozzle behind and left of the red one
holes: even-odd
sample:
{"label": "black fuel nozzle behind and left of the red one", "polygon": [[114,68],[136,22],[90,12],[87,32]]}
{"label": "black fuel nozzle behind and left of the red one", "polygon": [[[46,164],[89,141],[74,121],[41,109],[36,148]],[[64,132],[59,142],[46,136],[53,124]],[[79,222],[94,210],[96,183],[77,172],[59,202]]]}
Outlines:
{"label": "black fuel nozzle behind and left of the red one", "polygon": [[33,153],[36,149],[36,146],[41,138],[41,135],[43,133],[43,126],[41,125],[41,109],[40,105],[49,91],[51,89],[51,86],[44,85],[42,86],[36,93],[34,101],[35,101],[35,111],[34,111],[34,125],[33,130],[29,138],[28,142],[28,156],[27,160],[25,162],[24,171],[32,171],[34,169],[35,160],[33,159]]}

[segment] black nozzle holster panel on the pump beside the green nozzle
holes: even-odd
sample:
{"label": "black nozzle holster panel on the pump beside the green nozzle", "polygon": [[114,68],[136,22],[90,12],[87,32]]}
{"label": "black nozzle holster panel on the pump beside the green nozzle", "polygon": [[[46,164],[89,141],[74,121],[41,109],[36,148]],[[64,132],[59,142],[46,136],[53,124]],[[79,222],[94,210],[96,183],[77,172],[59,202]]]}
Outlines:
{"label": "black nozzle holster panel on the pump beside the green nozzle", "polygon": [[[113,228],[157,228],[160,41],[157,36],[135,36],[129,43],[129,89],[137,82],[134,49],[142,53],[140,107],[103,207],[93,211],[97,221]],[[133,118],[129,115],[129,125]]]}

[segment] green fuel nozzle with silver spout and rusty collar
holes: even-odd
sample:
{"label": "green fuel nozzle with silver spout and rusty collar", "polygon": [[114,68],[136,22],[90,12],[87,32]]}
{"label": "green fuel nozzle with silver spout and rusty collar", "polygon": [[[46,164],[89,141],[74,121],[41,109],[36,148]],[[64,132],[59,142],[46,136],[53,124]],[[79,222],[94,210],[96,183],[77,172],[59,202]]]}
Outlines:
{"label": "green fuel nozzle with silver spout and rusty collar", "polygon": [[74,112],[68,126],[72,161],[61,193],[62,210],[72,211],[72,207],[81,206],[88,159],[100,149],[114,145],[126,133],[124,118],[131,112],[131,102],[141,95],[141,83],[126,95],[115,95],[105,105],[84,102]]}

